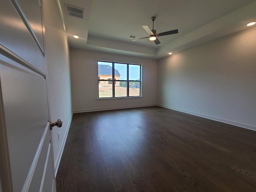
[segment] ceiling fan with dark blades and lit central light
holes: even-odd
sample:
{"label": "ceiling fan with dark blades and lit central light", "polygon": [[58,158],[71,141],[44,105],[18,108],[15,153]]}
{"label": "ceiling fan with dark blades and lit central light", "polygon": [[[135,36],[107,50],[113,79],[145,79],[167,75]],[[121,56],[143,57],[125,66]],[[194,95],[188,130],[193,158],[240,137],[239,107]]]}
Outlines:
{"label": "ceiling fan with dark blades and lit central light", "polygon": [[178,29],[171,30],[171,31],[166,31],[166,32],[162,32],[162,33],[156,33],[156,30],[154,30],[154,20],[155,19],[156,19],[156,17],[152,17],[151,18],[151,20],[153,22],[153,29],[152,30],[150,30],[150,28],[147,25],[142,25],[142,27],[146,30],[146,32],[148,32],[149,36],[148,37],[142,37],[142,38],[134,39],[133,41],[149,38],[149,40],[154,41],[158,45],[161,42],[158,40],[157,37],[178,33]]}

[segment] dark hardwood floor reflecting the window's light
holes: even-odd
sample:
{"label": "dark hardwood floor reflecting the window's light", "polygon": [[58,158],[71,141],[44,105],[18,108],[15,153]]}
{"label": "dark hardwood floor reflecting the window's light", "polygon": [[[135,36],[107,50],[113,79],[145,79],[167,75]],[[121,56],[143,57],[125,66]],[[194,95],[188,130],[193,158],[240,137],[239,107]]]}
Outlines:
{"label": "dark hardwood floor reflecting the window's light", "polygon": [[161,107],[74,114],[57,192],[256,192],[256,132]]}

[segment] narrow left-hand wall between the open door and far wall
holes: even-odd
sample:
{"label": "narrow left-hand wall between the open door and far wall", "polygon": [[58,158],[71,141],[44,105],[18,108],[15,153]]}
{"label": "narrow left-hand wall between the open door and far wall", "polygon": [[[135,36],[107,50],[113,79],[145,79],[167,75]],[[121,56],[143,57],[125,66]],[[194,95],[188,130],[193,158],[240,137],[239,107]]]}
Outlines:
{"label": "narrow left-hand wall between the open door and far wall", "polygon": [[[69,47],[54,0],[44,0],[48,99],[53,121],[62,119],[62,127],[52,129],[55,171],[72,117]],[[58,140],[58,132],[59,140]]]}

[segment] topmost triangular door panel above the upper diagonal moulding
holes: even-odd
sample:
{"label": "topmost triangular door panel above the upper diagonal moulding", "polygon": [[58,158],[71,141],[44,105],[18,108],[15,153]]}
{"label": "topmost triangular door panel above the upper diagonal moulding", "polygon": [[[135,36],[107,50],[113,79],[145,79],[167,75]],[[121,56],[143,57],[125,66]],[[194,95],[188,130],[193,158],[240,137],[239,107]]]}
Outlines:
{"label": "topmost triangular door panel above the upper diagonal moulding", "polygon": [[18,0],[28,22],[36,35],[38,43],[44,50],[43,28],[42,28],[42,12],[39,0]]}

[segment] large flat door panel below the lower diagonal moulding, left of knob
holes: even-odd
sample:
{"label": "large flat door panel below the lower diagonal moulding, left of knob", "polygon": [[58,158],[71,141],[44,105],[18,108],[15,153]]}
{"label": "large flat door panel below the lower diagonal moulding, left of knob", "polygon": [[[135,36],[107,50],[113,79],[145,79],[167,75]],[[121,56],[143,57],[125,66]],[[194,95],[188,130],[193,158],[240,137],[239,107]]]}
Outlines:
{"label": "large flat door panel below the lower diagonal moulding, left of knob", "polygon": [[46,80],[3,62],[0,80],[12,184],[21,191],[49,120]]}

